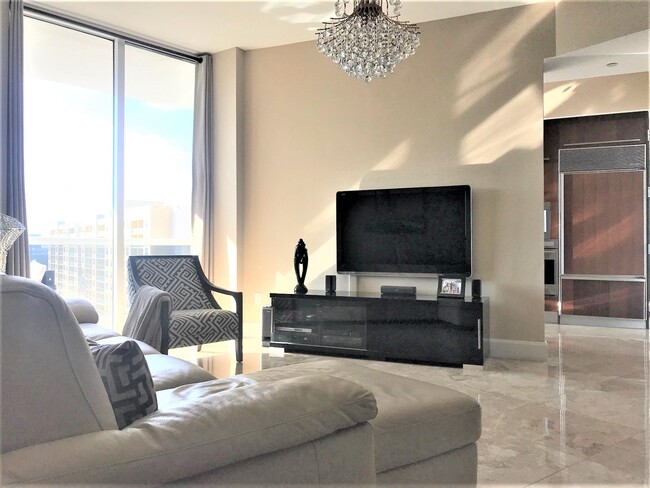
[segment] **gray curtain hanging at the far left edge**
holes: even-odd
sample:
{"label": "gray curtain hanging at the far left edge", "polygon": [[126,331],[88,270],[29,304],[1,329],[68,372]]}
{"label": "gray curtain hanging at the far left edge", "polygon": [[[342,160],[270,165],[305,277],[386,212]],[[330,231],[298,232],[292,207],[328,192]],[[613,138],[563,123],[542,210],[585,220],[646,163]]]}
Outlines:
{"label": "gray curtain hanging at the far left edge", "polygon": [[[7,80],[7,154],[3,213],[27,227],[25,167],[23,150],[23,0],[9,0],[9,66]],[[29,276],[27,232],[16,240],[7,254],[7,274]]]}

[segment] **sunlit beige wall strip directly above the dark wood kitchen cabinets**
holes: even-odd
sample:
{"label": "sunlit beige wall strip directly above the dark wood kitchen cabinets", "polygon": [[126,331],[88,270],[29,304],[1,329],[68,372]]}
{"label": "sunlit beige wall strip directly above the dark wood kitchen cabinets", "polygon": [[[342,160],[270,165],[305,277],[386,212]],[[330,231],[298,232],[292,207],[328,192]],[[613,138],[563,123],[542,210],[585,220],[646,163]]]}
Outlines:
{"label": "sunlit beige wall strip directly above the dark wood kitchen cabinets", "polygon": [[648,109],[650,109],[650,79],[647,72],[544,85],[546,118]]}

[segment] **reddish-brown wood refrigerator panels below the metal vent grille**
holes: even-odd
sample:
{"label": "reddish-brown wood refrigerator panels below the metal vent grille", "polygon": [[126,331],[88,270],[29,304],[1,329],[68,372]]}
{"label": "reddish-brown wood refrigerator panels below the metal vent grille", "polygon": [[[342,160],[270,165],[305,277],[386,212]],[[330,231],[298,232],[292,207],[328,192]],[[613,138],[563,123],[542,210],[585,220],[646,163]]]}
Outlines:
{"label": "reddish-brown wood refrigerator panels below the metal vent grille", "polygon": [[562,314],[643,320],[645,172],[563,176]]}

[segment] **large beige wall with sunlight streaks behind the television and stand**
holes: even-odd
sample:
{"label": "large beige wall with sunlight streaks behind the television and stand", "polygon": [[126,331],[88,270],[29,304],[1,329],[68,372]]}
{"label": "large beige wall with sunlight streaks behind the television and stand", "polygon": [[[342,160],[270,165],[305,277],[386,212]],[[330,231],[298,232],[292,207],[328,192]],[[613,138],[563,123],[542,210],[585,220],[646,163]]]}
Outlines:
{"label": "large beige wall with sunlight streaks behind the television and stand", "polygon": [[[291,292],[296,242],[307,286],[335,271],[338,190],[470,184],[474,277],[492,337],[543,343],[543,58],[552,4],[424,23],[416,54],[385,80],[348,78],[313,42],[245,53],[246,320]],[[435,290],[433,278],[361,278]],[[261,298],[261,300],[260,300]]]}

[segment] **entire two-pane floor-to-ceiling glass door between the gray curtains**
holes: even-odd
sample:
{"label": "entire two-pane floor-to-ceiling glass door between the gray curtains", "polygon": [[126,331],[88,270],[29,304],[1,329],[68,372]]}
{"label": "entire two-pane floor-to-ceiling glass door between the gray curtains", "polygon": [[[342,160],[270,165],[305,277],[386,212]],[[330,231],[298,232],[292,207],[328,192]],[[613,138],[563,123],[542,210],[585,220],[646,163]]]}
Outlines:
{"label": "entire two-pane floor-to-ceiling glass door between the gray curtains", "polygon": [[130,254],[188,253],[194,64],[25,18],[31,272],[121,329]]}

